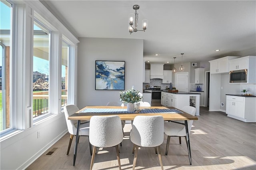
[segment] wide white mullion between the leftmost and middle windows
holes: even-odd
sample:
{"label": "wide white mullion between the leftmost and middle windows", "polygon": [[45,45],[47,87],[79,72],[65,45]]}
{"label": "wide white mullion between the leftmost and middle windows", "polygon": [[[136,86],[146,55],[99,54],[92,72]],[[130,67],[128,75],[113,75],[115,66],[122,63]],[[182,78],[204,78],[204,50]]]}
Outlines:
{"label": "wide white mullion between the leftmost and middle windows", "polygon": [[14,24],[13,33],[11,113],[14,116],[13,127],[25,130],[32,125],[33,10],[28,5],[16,4],[14,18],[17,24]]}

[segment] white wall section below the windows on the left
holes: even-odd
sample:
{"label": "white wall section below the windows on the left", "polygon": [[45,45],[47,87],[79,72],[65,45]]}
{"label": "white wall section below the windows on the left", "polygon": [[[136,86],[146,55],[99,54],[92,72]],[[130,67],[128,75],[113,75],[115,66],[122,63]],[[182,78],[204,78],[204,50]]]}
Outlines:
{"label": "white wall section below the windows on the left", "polygon": [[[40,132],[40,138],[37,138],[37,132]],[[0,169],[25,169],[66,132],[68,130],[64,113],[53,115],[27,130],[16,131],[15,135],[0,141]]]}

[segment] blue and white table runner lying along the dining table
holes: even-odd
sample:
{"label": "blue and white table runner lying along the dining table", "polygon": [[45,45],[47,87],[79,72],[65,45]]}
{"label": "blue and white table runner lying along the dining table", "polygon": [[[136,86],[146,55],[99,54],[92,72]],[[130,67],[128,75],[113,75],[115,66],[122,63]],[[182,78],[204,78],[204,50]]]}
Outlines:
{"label": "blue and white table runner lying along the dining table", "polygon": [[85,108],[80,113],[182,113],[178,109],[140,109],[139,112],[128,112],[124,109]]}

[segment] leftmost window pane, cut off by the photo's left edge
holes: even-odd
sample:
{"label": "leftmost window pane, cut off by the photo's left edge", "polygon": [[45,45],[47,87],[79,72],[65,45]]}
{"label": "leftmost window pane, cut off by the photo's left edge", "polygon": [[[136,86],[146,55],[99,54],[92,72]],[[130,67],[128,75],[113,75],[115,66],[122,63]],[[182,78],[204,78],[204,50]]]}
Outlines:
{"label": "leftmost window pane, cut off by the photo's left edge", "polygon": [[0,132],[12,127],[10,114],[10,51],[12,5],[0,2]]}

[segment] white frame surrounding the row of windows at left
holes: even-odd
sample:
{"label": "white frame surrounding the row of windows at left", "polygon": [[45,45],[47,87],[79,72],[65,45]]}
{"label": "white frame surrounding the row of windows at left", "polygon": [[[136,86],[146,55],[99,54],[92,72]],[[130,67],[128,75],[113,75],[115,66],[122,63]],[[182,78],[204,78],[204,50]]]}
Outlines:
{"label": "white frame surrounding the row of windows at left", "polygon": [[[42,119],[51,119],[52,115],[62,113],[60,86],[62,40],[65,40],[70,45],[68,59],[68,104],[76,104],[77,71],[75,68],[78,39],[40,1],[13,0],[8,2],[12,4],[12,26],[10,31],[11,126],[9,129],[0,132],[1,139],[2,136],[8,136],[6,134],[10,134],[15,130],[27,130],[43,122]],[[33,120],[32,116],[34,20],[43,24],[51,32],[49,76],[51,73],[52,75],[49,77],[49,81],[53,81],[49,87],[49,115],[47,114],[42,119],[35,120]],[[58,50],[54,50],[56,47]]]}

